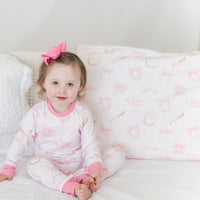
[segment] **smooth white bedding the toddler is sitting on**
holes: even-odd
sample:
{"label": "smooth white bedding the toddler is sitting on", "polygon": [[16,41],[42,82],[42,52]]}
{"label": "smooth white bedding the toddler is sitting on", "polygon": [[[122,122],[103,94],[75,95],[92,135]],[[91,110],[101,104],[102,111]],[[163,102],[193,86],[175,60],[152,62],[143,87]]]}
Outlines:
{"label": "smooth white bedding the toddler is sitting on", "polygon": [[[0,169],[4,157],[0,157]],[[24,157],[12,181],[0,183],[1,200],[77,199],[48,189],[26,173]],[[199,200],[200,162],[127,160],[122,169],[104,180],[91,200]]]}

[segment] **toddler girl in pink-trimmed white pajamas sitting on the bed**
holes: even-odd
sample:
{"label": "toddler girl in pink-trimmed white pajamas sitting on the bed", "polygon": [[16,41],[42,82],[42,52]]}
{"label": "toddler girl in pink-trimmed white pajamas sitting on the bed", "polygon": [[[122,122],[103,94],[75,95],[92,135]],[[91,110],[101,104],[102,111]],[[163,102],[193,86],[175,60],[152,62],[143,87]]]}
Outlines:
{"label": "toddler girl in pink-trimmed white pajamas sitting on the bed", "polygon": [[100,187],[102,172],[91,113],[78,101],[85,92],[86,69],[78,56],[66,52],[66,43],[42,58],[37,83],[45,100],[22,120],[0,181],[12,180],[18,160],[34,141],[28,174],[49,188],[86,200]]}

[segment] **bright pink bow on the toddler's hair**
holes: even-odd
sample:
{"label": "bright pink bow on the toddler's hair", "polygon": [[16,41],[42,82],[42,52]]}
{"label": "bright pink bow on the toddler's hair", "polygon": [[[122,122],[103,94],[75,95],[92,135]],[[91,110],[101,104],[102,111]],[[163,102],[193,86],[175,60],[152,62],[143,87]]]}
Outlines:
{"label": "bright pink bow on the toddler's hair", "polygon": [[61,52],[66,52],[66,42],[61,43],[60,45],[58,45],[57,47],[52,47],[47,54],[43,54],[42,58],[44,60],[44,62],[46,63],[46,65],[49,65],[49,62],[51,59],[57,59]]}

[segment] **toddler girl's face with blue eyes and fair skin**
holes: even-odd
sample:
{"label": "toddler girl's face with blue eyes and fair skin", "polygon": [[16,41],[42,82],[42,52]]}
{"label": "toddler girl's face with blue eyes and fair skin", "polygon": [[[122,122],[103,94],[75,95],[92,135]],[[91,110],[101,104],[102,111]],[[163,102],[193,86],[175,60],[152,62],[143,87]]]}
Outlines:
{"label": "toddler girl's face with blue eyes and fair skin", "polygon": [[65,112],[76,99],[81,72],[77,66],[54,63],[44,81],[46,94],[56,112]]}

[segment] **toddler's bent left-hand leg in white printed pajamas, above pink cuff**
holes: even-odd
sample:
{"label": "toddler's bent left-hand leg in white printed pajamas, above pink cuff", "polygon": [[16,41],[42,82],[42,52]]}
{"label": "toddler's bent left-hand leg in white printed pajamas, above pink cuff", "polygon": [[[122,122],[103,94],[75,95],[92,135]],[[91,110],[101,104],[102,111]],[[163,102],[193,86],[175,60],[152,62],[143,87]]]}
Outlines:
{"label": "toddler's bent left-hand leg in white printed pajamas, above pink cuff", "polygon": [[52,161],[35,157],[28,163],[28,174],[46,187],[62,192],[64,184],[72,178],[56,168]]}

